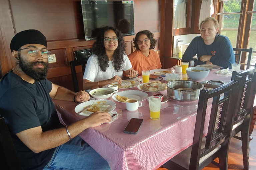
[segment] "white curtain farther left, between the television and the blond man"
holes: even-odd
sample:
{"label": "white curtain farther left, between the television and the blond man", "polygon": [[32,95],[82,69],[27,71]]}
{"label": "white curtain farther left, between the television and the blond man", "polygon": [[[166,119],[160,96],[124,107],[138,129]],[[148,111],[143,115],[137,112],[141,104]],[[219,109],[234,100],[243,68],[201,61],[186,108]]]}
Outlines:
{"label": "white curtain farther left, between the television and the blond man", "polygon": [[174,28],[185,28],[186,17],[186,3],[184,0],[179,0],[174,15]]}

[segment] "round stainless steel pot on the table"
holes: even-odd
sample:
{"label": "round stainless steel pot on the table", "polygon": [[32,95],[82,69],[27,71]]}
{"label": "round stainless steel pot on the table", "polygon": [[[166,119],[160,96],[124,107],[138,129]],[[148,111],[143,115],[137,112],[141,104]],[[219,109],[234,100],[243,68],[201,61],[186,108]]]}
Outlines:
{"label": "round stainless steel pot on the table", "polygon": [[167,83],[167,95],[178,101],[190,102],[199,99],[204,85],[195,81],[176,80]]}

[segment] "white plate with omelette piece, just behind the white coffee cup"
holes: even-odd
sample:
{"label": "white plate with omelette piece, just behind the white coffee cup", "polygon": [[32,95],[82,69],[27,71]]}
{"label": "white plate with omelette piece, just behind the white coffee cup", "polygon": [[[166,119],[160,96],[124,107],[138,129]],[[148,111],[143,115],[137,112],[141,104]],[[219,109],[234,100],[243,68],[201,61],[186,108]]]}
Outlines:
{"label": "white plate with omelette piece, just behind the white coffee cup", "polygon": [[126,90],[122,92],[118,92],[112,96],[117,102],[126,103],[127,99],[138,99],[139,102],[146,100],[148,98],[148,94],[138,90]]}

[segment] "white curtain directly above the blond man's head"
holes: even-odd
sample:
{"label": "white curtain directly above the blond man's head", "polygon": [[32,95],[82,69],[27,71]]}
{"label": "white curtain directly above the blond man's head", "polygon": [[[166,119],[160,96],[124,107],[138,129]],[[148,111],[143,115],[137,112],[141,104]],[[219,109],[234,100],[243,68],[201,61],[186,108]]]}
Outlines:
{"label": "white curtain directly above the blond man's head", "polygon": [[[205,18],[210,17],[214,14],[213,0],[203,0],[199,16],[199,24]],[[200,28],[199,28],[200,29]]]}

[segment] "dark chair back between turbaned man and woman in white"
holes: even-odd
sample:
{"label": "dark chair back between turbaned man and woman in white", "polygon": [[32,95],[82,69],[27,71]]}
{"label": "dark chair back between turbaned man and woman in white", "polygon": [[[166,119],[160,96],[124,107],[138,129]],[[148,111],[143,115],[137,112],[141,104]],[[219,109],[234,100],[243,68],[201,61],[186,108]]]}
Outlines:
{"label": "dark chair back between turbaned man and woman in white", "polygon": [[70,68],[71,68],[71,75],[72,75],[72,79],[73,79],[74,92],[79,92],[78,79],[77,79],[77,75],[76,75],[76,66],[81,65],[82,72],[84,74],[86,63],[87,63],[87,61],[79,61],[79,62],[70,61]]}

